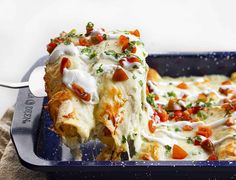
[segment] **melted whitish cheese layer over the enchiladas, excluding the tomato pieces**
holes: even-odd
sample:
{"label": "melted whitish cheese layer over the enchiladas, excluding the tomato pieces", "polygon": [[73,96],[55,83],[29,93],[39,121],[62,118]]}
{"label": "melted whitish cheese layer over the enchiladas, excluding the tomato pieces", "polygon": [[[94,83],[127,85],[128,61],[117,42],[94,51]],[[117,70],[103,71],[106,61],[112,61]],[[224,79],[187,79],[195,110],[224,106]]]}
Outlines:
{"label": "melted whitish cheese layer over the enchiladas, excluding the tomato pieces", "polygon": [[[225,116],[225,111],[221,108],[223,100],[232,95],[225,96],[219,92],[219,88],[236,90],[234,83],[221,85],[227,77],[162,77],[158,82],[147,81],[147,53],[138,37],[127,31],[104,32],[96,29],[93,33],[95,32],[104,33],[107,39],[89,47],[61,43],[51,53],[48,61],[49,65],[57,64],[57,68],[60,68],[61,59],[69,58],[71,66],[63,69],[61,82],[72,92],[72,84],[76,83],[92,97],[86,102],[73,94],[72,99],[63,102],[59,107],[56,126],[63,123],[72,125],[76,127],[78,134],[76,137],[63,137],[68,146],[77,148],[80,136],[86,140],[97,137],[108,146],[108,150],[104,152],[114,151],[109,155],[110,159],[119,159],[121,152],[127,152],[130,160],[143,160],[143,155],[147,158],[150,154],[152,155],[149,160],[157,157],[158,160],[173,160],[171,148],[177,144],[188,153],[185,160],[206,160],[209,153],[201,146],[193,144],[199,127],[212,128],[213,133],[208,138],[216,147],[226,140],[234,139],[236,128],[225,126],[229,116]],[[135,53],[122,52],[119,44],[121,35],[135,44]],[[137,57],[140,62],[128,62],[127,58],[130,56]],[[124,60],[123,65],[119,63],[121,59]],[[118,68],[123,70],[127,80],[113,80],[114,72]],[[185,82],[188,88],[178,88],[182,82]],[[151,93],[158,96],[151,104],[147,101],[146,84]],[[204,102],[196,101],[200,94],[212,95],[212,101],[210,108],[201,109],[203,114],[192,115],[197,121],[175,121],[170,118],[170,114],[175,113],[172,111],[169,112],[169,119],[162,122],[159,106],[166,108],[172,96],[179,99],[178,106],[186,110],[188,105],[196,106],[197,103],[197,106],[205,106]],[[65,115],[72,112],[77,113],[75,118],[66,119]],[[235,120],[234,113],[231,117]],[[150,120],[153,121],[151,125],[154,130],[150,130]],[[191,127],[192,130],[184,131],[185,126]],[[199,137],[206,139],[204,136]],[[133,153],[134,155],[131,155]]]}

